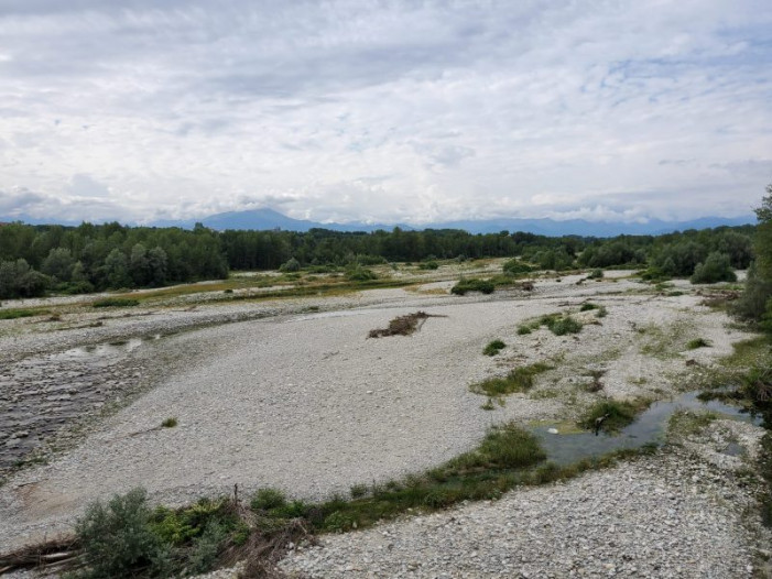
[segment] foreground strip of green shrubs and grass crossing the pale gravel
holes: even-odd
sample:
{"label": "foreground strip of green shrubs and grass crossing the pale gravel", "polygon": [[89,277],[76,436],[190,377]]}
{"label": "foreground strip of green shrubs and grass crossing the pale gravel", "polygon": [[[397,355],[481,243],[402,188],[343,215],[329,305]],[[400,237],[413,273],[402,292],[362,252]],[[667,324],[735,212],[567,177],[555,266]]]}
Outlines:
{"label": "foreground strip of green shrubs and grass crossing the pale gravel", "polygon": [[[652,449],[646,447],[644,452]],[[203,499],[183,509],[148,505],[135,489],[95,502],[76,524],[76,537],[0,556],[8,569],[34,567],[48,555],[77,578],[178,577],[246,560],[247,577],[275,572],[290,542],[315,533],[362,528],[405,512],[432,512],[467,500],[492,500],[517,485],[542,484],[616,463],[640,451],[610,454],[569,467],[546,462],[536,438],[512,425],[492,428],[477,449],[423,474],[356,485],[351,498],[312,503],[261,489],[249,501]]]}

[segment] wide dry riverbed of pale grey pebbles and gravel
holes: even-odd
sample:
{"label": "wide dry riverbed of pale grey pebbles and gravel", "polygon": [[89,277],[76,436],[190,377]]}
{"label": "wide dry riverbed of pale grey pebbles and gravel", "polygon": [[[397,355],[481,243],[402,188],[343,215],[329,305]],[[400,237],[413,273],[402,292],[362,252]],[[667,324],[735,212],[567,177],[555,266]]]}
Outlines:
{"label": "wide dry riverbed of pale grey pebbles and gravel", "polygon": [[[436,282],[0,321],[0,550],[67,532],[88,502],[137,485],[166,504],[236,483],[319,499],[436,466],[493,424],[562,433],[598,400],[694,389],[749,337],[688,284],[668,294],[624,272],[583,277],[491,296]],[[368,338],[418,309],[432,317],[416,334]],[[581,331],[518,331],[558,312]],[[689,349],[697,338],[709,346]],[[494,339],[507,347],[482,356]],[[552,369],[503,405],[485,409],[468,389],[534,362]],[[324,538],[283,565],[314,577],[750,577],[769,538],[742,477],[760,433],[717,420],[652,457]],[[739,457],[722,454],[729,443]],[[30,458],[47,462],[11,471]]]}

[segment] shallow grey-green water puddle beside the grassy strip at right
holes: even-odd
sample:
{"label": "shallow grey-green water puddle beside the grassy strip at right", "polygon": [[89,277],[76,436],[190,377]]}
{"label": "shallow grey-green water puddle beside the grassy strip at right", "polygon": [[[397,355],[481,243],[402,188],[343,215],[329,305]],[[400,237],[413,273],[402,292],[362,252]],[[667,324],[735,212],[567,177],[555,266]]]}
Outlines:
{"label": "shallow grey-green water puddle beside the grassy strip at right", "polygon": [[[698,392],[687,392],[677,398],[652,404],[631,425],[616,435],[600,433],[553,434],[553,427],[536,426],[532,429],[539,437],[547,459],[557,465],[570,465],[583,458],[600,457],[613,450],[640,448],[648,444],[661,444],[667,429],[667,420],[678,409],[713,411],[722,417],[735,418],[761,425],[761,416],[751,416],[742,408],[730,406],[719,401],[703,402],[697,400]],[[741,448],[728,448],[727,454],[741,452]]]}

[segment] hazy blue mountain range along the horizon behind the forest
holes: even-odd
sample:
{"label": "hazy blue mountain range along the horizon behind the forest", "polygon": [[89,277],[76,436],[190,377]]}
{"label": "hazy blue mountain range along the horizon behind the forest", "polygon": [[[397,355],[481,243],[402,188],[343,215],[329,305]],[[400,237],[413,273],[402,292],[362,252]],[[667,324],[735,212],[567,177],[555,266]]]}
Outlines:
{"label": "hazy blue mountain range along the horizon behind the forest", "polygon": [[[25,216],[15,218],[0,217],[0,222],[23,221],[31,225],[58,223],[79,225],[79,222],[62,221],[56,219],[33,219]],[[421,227],[402,223],[322,223],[305,219],[293,219],[270,208],[250,209],[246,211],[228,211],[216,214],[200,219],[186,220],[156,220],[144,223],[150,227],[181,227],[192,229],[196,222],[215,229],[225,231],[226,229],[251,229],[272,230],[282,229],[285,231],[308,231],[309,229],[330,229],[334,231],[377,231],[383,229],[391,231],[394,227],[403,230],[417,229],[461,229],[470,233],[494,233],[498,231],[525,231],[541,236],[592,236],[613,237],[620,234],[630,236],[659,236],[673,231],[684,231],[687,229],[707,229],[720,226],[741,226],[754,223],[755,216],[747,215],[733,218],[724,217],[702,217],[688,221],[662,221],[650,219],[645,223],[624,223],[621,221],[587,221],[584,219],[568,219],[559,221],[556,219],[522,219],[522,218],[499,218],[486,220],[458,220],[426,223]]]}

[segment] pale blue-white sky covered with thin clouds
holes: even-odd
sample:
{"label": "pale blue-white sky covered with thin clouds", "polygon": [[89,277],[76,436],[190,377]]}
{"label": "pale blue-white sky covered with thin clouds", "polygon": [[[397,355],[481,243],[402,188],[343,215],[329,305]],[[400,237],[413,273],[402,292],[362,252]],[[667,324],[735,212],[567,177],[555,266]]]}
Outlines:
{"label": "pale blue-white sky covered with thin clouds", "polygon": [[0,0],[0,216],[733,217],[769,0]]}

